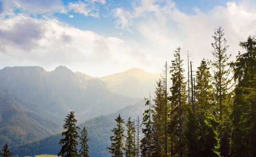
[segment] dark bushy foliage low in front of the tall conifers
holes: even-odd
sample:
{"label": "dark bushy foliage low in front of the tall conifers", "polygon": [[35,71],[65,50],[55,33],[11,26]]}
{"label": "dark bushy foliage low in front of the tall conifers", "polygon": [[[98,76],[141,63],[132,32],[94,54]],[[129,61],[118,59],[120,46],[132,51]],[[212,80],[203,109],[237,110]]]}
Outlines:
{"label": "dark bushy foliage low in front of the tall conifers", "polygon": [[188,112],[185,136],[188,157],[220,157],[218,126],[214,117]]}

